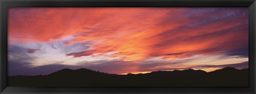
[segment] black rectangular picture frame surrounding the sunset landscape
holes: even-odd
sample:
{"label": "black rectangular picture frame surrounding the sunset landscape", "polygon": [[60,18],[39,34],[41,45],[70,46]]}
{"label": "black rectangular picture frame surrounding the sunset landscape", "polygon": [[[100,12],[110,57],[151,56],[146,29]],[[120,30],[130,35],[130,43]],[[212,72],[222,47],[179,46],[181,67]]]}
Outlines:
{"label": "black rectangular picture frame surrounding the sunset landscape", "polygon": [[[5,93],[255,93],[255,0],[0,0],[0,92]],[[249,7],[249,87],[8,87],[9,7]]]}

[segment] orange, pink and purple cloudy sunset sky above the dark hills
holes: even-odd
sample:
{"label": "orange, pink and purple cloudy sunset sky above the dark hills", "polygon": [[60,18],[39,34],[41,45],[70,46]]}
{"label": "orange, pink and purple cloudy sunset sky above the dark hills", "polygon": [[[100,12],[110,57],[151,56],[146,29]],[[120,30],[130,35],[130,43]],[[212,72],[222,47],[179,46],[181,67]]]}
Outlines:
{"label": "orange, pink and purple cloudy sunset sky above the dark hills", "polygon": [[9,8],[8,74],[248,68],[248,8]]}

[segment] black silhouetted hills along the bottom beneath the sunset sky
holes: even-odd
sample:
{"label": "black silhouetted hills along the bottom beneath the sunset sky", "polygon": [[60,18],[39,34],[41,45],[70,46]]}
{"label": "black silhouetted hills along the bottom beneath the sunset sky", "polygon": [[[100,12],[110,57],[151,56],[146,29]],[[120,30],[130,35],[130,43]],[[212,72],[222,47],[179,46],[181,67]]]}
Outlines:
{"label": "black silhouetted hills along the bottom beneath the sunset sky", "polygon": [[88,69],[62,69],[47,76],[11,76],[9,86],[32,87],[247,87],[249,70],[227,67],[203,70],[108,74]]}

